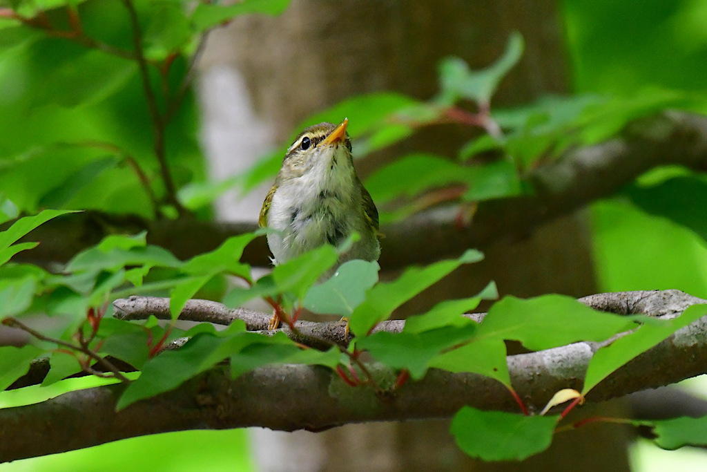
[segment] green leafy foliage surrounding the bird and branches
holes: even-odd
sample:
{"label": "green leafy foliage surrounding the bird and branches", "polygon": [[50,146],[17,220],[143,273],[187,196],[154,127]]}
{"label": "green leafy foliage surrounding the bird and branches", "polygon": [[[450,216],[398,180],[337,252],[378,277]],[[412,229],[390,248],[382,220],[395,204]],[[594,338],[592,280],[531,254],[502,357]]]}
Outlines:
{"label": "green leafy foliage surrounding the bird and branches", "polygon": [[[503,297],[483,323],[462,317],[482,299],[498,296],[490,282],[475,297],[445,300],[409,318],[402,333],[373,333],[406,301],[483,255],[469,248],[457,258],[409,267],[385,282],[378,280],[377,263],[355,260],[327,282],[315,284],[345,250],[322,246],[256,279],[241,256],[248,243],[263,237],[262,231],[228,238],[214,251],[188,260],[149,244],[141,232],[110,234],[61,267],[14,262],[13,255],[37,244],[23,239],[26,235],[72,212],[206,219],[211,202],[225,190],[247,192],[274,178],[284,148],[241,175],[221,182],[206,179],[192,79],[211,28],[243,14],[279,14],[288,1],[191,4],[13,0],[0,9],[0,219],[5,222],[0,233],[0,318],[34,336],[23,347],[0,347],[0,390],[23,376],[35,359],[49,357],[51,368],[42,385],[78,372],[122,381],[126,388],[117,408],[176,388],[224,360],[233,378],[267,364],[312,364],[339,372],[335,381],[351,384],[348,388],[373,388],[381,394],[404,388],[404,376],[416,381],[431,368],[472,372],[495,379],[514,395],[506,341],[546,350],[631,331],[597,351],[582,391],[557,401],[575,405],[621,365],[707,313],[706,306],[695,306],[672,321],[656,321],[594,311],[550,294],[525,300]],[[392,92],[354,96],[308,117],[303,125],[349,117],[356,159],[422,127],[452,122],[479,131],[460,147],[457,159],[409,154],[366,180],[382,223],[392,223],[438,202],[440,189],[460,189],[446,192],[443,200],[462,205],[531,193],[527,172],[551,164],[568,149],[604,142],[633,120],[667,108],[704,107],[699,94],[652,90],[631,97],[545,96],[522,107],[497,109],[494,93],[522,54],[523,40],[515,33],[485,69],[472,70],[456,57],[444,59],[438,69],[439,91],[428,100]],[[685,195],[704,195],[706,190],[704,175],[679,169],[637,180],[621,197],[706,238],[703,209],[680,203]],[[233,279],[244,283],[228,284]],[[154,317],[141,322],[112,317],[111,302],[132,294],[170,297],[172,320],[165,324]],[[332,344],[324,351],[303,349],[284,333],[252,333],[240,321],[221,331],[209,323],[180,330],[177,316],[194,297],[229,307],[261,298],[284,313],[305,307],[346,316],[354,342],[349,347]],[[36,313],[51,317],[51,328],[31,328],[25,318]],[[184,337],[189,341],[180,349],[164,349]],[[387,367],[383,381],[367,375],[359,359],[362,351]],[[134,367],[139,376],[120,372],[108,357]],[[518,413],[462,408],[451,428],[459,446],[489,461],[520,460],[546,449],[566,411],[530,415],[520,398],[518,402]],[[707,437],[699,434],[704,422],[650,425],[655,426],[657,444],[672,449],[705,444]]]}

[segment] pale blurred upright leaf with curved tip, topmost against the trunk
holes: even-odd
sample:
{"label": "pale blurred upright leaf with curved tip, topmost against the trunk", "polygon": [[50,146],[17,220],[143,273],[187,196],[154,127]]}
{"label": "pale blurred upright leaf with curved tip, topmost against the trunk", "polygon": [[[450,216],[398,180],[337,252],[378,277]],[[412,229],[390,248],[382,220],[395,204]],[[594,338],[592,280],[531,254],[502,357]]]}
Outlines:
{"label": "pale blurred upright leaf with curved tip, topmost against the trunk", "polygon": [[480,71],[470,71],[467,63],[458,57],[444,59],[440,64],[442,91],[438,103],[450,106],[460,98],[467,98],[479,104],[489,103],[501,79],[520,59],[523,47],[520,33],[512,33],[503,56]]}

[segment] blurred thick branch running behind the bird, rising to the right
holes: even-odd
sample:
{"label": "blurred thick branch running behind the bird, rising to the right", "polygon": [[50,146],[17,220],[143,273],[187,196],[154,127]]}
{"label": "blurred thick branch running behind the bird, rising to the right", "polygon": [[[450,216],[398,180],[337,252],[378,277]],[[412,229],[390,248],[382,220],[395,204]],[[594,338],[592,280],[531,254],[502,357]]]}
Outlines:
{"label": "blurred thick branch running behind the bird, rising to the right", "polygon": [[[525,236],[535,226],[613,195],[638,175],[667,164],[707,171],[707,117],[660,113],[634,122],[615,139],[567,151],[559,161],[527,175],[534,195],[480,202],[472,224],[466,229],[460,230],[455,224],[457,207],[431,209],[383,226],[380,265],[394,269],[457,255],[469,247],[484,249],[502,237]],[[72,214],[33,231],[27,241],[42,241],[42,244],[33,251],[19,253],[16,260],[63,262],[100,241],[109,230],[143,229],[148,229],[150,243],[168,248],[177,257],[189,258],[211,251],[228,236],[254,231],[256,227],[255,214],[252,223],[239,224]],[[77,237],[64,238],[66,234]],[[243,259],[252,265],[267,266],[268,255],[265,239],[257,238],[246,248]]]}

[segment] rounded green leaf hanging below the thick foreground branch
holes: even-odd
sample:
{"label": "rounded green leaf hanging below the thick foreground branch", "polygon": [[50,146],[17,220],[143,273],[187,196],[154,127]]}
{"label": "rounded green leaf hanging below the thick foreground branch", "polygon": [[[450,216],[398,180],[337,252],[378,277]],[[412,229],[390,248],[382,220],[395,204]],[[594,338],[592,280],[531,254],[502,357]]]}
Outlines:
{"label": "rounded green leaf hanging below the thick foreground branch", "polygon": [[457,445],[484,461],[522,461],[547,449],[558,418],[481,411],[464,406],[452,420]]}

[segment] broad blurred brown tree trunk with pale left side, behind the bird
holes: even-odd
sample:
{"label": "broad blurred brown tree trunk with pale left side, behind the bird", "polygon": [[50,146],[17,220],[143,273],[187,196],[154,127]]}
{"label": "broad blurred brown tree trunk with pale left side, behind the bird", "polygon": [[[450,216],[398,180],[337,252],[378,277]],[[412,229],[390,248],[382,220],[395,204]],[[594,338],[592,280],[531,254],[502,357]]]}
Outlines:
{"label": "broad blurred brown tree trunk with pale left side, behind the bird", "polygon": [[[430,98],[438,91],[440,59],[457,55],[473,68],[486,67],[501,55],[513,30],[525,38],[525,53],[501,84],[494,105],[565,92],[561,24],[551,1],[294,0],[280,17],[240,18],[212,35],[201,76],[206,137],[213,134],[208,124],[218,123],[218,113],[230,113],[239,127],[234,132],[248,137],[246,146],[260,140],[269,145],[286,139],[306,116],[354,94],[393,90]],[[229,74],[235,79],[230,89],[214,86]],[[248,99],[234,93],[237,100],[228,100],[223,91],[236,90],[238,81],[245,84],[241,91],[247,90]],[[460,127],[424,129],[411,143],[366,159],[360,168],[365,174],[406,149],[430,143],[438,154],[452,155],[468,137]],[[230,165],[243,166],[247,151],[225,132],[220,141],[216,138],[207,139],[213,154],[230,155]],[[219,175],[228,171],[223,164],[214,166],[220,166]],[[250,197],[250,207],[241,207],[246,212],[241,219],[255,219],[266,191]],[[582,214],[542,226],[522,241],[506,238],[480,249],[486,253],[484,263],[455,272],[396,314],[472,296],[489,280],[496,280],[501,294],[520,297],[596,292]],[[611,408],[620,414],[620,405]],[[318,434],[258,432],[255,449],[264,471],[628,470],[626,430],[615,425],[560,434],[549,451],[522,464],[472,461],[457,449],[448,427],[448,421],[424,421],[351,425]]]}

